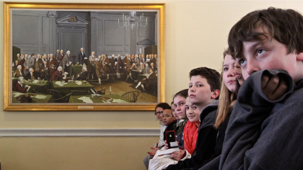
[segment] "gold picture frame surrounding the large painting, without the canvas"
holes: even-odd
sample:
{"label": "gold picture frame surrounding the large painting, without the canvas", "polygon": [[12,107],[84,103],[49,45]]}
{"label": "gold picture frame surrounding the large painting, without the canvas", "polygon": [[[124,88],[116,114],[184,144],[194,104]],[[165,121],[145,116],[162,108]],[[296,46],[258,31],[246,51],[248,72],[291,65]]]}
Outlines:
{"label": "gold picture frame surrounding the large painting, without the canvas", "polygon": [[[30,3],[3,2],[4,7],[4,111],[126,111],[154,110],[157,103],[165,101],[165,4],[124,4],[124,3]],[[12,102],[13,86],[13,11],[127,11],[156,12],[157,31],[157,101],[153,103],[18,103]],[[53,15],[53,14],[52,14]],[[121,17],[122,18],[122,17]],[[75,16],[68,18],[74,22]],[[69,22],[68,21],[68,22]],[[120,20],[121,22],[121,20]],[[147,19],[146,19],[147,22]],[[51,37],[51,35],[50,35]],[[137,43],[138,44],[138,43]],[[137,45],[136,44],[136,45]],[[143,47],[142,47],[143,48]],[[90,52],[86,51],[87,56]],[[130,53],[128,53],[130,54]],[[112,95],[112,94],[111,94]],[[149,95],[149,94],[147,94]]]}

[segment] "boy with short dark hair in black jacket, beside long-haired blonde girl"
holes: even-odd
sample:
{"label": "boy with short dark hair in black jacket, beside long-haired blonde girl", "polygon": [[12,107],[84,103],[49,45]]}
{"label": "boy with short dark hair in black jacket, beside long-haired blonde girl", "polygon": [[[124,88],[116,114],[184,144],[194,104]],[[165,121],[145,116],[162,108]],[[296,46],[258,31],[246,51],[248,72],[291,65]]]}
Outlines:
{"label": "boy with short dark hair in black jacket, beside long-haired blonde girl", "polygon": [[194,168],[202,165],[203,161],[210,159],[215,153],[216,137],[218,131],[214,128],[218,108],[220,89],[220,74],[207,67],[200,67],[190,71],[188,96],[190,102],[201,111],[200,126],[195,150],[190,159],[169,165],[167,169]]}

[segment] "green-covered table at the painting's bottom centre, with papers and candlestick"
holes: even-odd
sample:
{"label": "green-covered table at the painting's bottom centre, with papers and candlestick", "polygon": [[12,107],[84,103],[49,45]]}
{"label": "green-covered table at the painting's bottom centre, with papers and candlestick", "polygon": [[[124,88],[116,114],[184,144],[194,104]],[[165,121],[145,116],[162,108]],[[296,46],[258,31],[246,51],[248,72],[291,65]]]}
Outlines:
{"label": "green-covered table at the painting's bottom centre, with papers and candlestick", "polygon": [[[109,97],[109,94],[102,95],[102,97]],[[98,98],[93,98],[92,96],[70,96],[68,103],[130,103],[127,99],[118,94],[112,94],[112,100],[105,102]]]}

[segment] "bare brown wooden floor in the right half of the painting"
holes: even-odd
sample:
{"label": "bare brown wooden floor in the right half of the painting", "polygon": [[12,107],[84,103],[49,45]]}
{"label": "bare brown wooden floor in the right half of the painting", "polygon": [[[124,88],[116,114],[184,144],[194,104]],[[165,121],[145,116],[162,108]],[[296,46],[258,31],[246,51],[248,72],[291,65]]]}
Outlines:
{"label": "bare brown wooden floor in the right half of the painting", "polygon": [[[88,80],[88,82],[95,82],[98,83],[98,80]],[[134,83],[133,80],[129,79],[127,82],[125,81],[125,78],[117,79],[115,80],[102,80],[101,86],[102,88],[106,88],[105,94],[109,94],[109,88],[111,86],[112,88],[112,94],[118,94],[122,96],[122,94],[130,92],[130,91],[138,91],[139,96],[136,103],[158,103],[158,97],[151,94],[150,90],[146,90],[146,92],[141,92],[141,87],[138,87],[138,89],[134,89],[137,83]]]}

